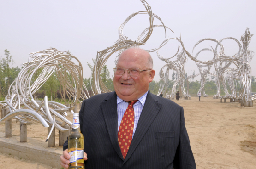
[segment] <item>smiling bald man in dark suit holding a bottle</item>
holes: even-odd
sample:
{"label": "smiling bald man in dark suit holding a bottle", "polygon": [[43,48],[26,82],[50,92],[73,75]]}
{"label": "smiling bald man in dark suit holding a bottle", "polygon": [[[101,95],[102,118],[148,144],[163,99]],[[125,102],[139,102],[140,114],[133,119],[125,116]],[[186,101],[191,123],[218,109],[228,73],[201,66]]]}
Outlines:
{"label": "smiling bald man in dark suit holding a bottle", "polygon": [[[115,91],[84,100],[79,112],[85,169],[196,169],[183,108],[149,91],[149,53],[127,49],[114,71]],[[63,149],[67,168],[67,141]]]}

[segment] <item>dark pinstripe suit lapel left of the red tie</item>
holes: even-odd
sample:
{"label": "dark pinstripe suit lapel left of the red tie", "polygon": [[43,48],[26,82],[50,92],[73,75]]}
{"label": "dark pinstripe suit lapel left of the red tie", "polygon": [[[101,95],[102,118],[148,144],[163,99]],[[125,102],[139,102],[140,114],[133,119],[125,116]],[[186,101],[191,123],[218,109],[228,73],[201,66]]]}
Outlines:
{"label": "dark pinstripe suit lapel left of the red tie", "polygon": [[122,152],[117,141],[117,104],[116,93],[110,93],[104,101],[101,102],[101,110],[107,125],[107,131],[111,144],[121,159],[123,158]]}

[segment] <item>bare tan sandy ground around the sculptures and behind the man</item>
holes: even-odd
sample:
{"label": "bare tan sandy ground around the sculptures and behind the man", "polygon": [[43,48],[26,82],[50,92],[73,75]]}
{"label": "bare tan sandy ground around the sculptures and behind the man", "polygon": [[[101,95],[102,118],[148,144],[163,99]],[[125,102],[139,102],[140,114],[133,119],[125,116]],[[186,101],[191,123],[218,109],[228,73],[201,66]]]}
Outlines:
{"label": "bare tan sandy ground around the sculptures and behind the man", "polygon": [[[229,101],[229,100],[228,100]],[[176,101],[184,107],[185,124],[197,169],[256,169],[256,105],[220,103],[219,99],[196,97]],[[71,115],[68,115],[71,119]],[[4,132],[0,124],[0,132]],[[45,141],[47,129],[35,123],[27,126],[28,137]],[[58,147],[58,131],[56,145]],[[12,123],[12,135],[19,135],[19,123]],[[61,148],[61,147],[58,147]],[[12,161],[12,164],[10,164]],[[0,153],[0,169],[50,169],[41,163]],[[53,168],[54,169],[54,168]]]}

